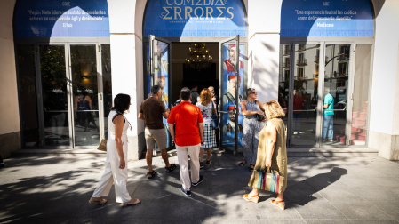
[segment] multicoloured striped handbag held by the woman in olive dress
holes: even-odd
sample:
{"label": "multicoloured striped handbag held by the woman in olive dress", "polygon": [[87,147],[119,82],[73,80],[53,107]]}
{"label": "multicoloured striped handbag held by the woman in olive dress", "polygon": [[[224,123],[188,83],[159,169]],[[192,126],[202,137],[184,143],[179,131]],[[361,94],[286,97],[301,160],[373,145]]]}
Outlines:
{"label": "multicoloured striped handbag held by the woman in olive dress", "polygon": [[253,182],[253,188],[267,190],[270,192],[280,193],[283,188],[284,177],[275,174],[275,170],[270,167],[270,172],[267,172],[267,168],[263,172],[253,171],[255,181]]}

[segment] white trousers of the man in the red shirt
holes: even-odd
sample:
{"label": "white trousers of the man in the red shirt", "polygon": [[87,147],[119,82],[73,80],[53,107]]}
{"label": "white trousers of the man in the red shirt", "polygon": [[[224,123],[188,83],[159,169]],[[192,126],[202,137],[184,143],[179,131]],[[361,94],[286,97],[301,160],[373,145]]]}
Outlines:
{"label": "white trousers of the man in the red shirt", "polygon": [[183,188],[188,191],[191,187],[190,177],[188,175],[188,156],[190,156],[191,180],[194,183],[199,180],[199,152],[201,144],[195,146],[180,147],[176,145],[178,154],[180,182]]}

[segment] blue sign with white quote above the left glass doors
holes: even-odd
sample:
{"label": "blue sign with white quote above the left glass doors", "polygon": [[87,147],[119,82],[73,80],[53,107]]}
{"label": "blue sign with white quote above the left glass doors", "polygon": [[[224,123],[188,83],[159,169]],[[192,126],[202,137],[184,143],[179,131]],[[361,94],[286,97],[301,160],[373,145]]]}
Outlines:
{"label": "blue sign with white quote above the left glass doors", "polygon": [[109,37],[107,0],[20,0],[16,37]]}

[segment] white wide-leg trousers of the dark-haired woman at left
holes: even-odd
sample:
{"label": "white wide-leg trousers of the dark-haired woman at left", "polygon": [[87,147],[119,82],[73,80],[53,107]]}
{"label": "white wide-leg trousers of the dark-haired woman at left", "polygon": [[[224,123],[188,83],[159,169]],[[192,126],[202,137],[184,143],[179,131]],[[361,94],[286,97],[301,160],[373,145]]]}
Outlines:
{"label": "white wide-leg trousers of the dark-haired woman at left", "polygon": [[115,183],[115,196],[117,203],[129,202],[132,198],[127,191],[127,140],[122,140],[124,161],[126,165],[124,169],[119,169],[119,156],[116,151],[115,140],[108,138],[107,142],[107,159],[105,171],[101,176],[99,185],[94,190],[92,197],[108,196]]}

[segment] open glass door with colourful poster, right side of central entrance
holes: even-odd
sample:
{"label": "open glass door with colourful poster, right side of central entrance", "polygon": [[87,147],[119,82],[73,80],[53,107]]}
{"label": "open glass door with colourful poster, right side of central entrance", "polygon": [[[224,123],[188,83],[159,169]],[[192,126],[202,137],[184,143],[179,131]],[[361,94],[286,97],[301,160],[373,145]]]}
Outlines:
{"label": "open glass door with colourful poster, right side of central entrance", "polygon": [[244,62],[240,52],[238,35],[220,42],[220,142],[222,148],[243,146],[243,115],[240,103],[243,100]]}

